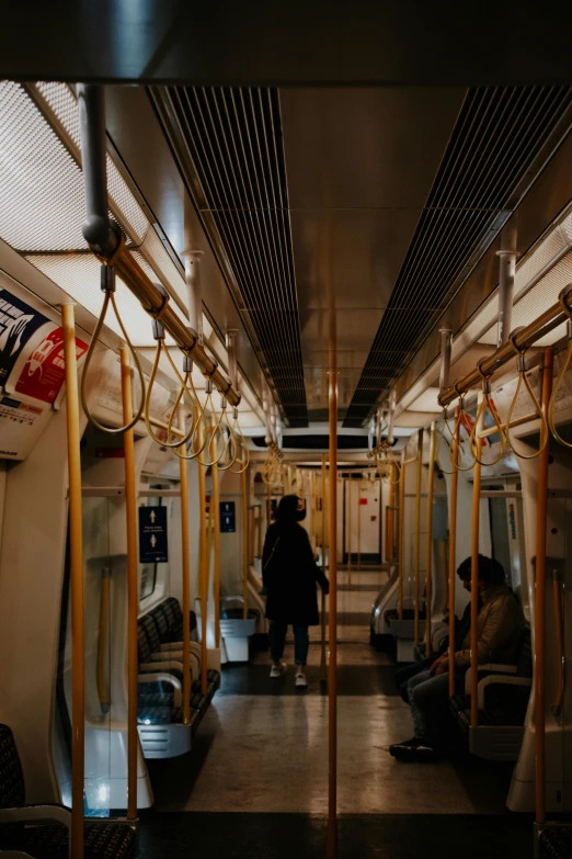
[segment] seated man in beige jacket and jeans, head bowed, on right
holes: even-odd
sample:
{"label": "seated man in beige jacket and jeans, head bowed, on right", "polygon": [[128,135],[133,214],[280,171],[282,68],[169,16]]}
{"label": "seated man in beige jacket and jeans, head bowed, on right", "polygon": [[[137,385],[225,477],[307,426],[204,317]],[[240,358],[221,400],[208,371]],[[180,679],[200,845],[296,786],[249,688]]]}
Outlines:
{"label": "seated man in beige jacket and jeans, head bowed, on right", "polygon": [[[457,570],[466,590],[471,589],[471,558]],[[502,565],[479,555],[478,590],[481,602],[477,620],[478,663],[516,663],[518,633],[525,622],[523,610],[511,588],[504,584]],[[448,652],[408,681],[408,699],[414,736],[396,743],[389,751],[399,760],[432,760],[447,747],[447,700],[449,697]],[[465,675],[470,667],[470,630],[455,652],[455,690],[465,691]]]}

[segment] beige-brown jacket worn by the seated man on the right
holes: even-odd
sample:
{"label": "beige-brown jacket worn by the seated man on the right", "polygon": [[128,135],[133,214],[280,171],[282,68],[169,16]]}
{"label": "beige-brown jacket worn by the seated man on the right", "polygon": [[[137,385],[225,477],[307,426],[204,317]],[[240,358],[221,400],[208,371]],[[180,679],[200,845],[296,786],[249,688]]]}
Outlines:
{"label": "beige-brown jacket worn by the seated man on the right", "polygon": [[[525,622],[523,610],[511,588],[494,585],[481,594],[482,608],[477,619],[477,662],[515,665],[517,631]],[[457,668],[471,664],[470,632],[455,654]]]}

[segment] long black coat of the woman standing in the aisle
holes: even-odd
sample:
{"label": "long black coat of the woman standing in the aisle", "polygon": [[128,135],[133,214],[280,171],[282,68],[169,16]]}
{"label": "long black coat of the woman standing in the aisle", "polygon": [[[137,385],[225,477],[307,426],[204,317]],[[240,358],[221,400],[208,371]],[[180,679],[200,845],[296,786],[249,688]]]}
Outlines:
{"label": "long black coat of the woman standing in the aisle", "polygon": [[293,521],[273,522],[262,553],[266,588],[266,618],[294,626],[319,623],[316,583],[328,594],[329,584],[313,560],[305,529]]}

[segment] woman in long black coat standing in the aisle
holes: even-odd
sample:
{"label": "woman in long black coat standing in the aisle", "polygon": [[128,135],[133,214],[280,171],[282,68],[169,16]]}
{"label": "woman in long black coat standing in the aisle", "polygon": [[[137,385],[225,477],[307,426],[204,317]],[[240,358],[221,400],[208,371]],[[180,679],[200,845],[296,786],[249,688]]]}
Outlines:
{"label": "woman in long black coat standing in the aisle", "polygon": [[299,522],[306,518],[304,500],[296,495],[285,495],[276,510],[267,532],[262,553],[262,578],[266,589],[266,618],[271,621],[270,647],[271,677],[279,677],[286,670],[282,660],[286,631],[294,630],[296,686],[308,686],[306,663],[308,659],[308,626],[319,623],[316,583],[324,594],[330,586],[313,560],[310,539]]}

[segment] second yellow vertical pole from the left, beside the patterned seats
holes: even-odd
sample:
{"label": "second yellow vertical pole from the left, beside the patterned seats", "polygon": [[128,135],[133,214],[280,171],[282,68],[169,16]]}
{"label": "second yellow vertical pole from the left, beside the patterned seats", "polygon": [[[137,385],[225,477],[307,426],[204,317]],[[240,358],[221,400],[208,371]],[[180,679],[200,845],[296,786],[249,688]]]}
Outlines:
{"label": "second yellow vertical pole from the left, beside the patterned seats", "polygon": [[[133,420],[131,360],[123,346],[122,402],[124,423]],[[125,508],[127,515],[127,818],[137,817],[137,614],[139,587],[137,568],[137,486],[135,483],[135,434],[123,433],[125,447]]]}

